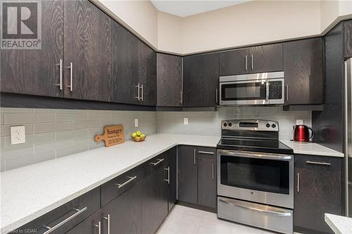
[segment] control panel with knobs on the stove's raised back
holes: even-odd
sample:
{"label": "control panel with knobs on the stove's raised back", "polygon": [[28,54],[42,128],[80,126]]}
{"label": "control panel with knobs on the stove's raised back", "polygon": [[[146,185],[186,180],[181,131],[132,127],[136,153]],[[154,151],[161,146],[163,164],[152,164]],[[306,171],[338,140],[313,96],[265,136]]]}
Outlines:
{"label": "control panel with knobs on the stove's raised back", "polygon": [[279,123],[262,119],[227,119],[221,122],[222,130],[279,131]]}

